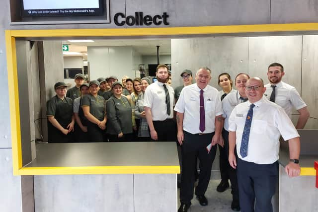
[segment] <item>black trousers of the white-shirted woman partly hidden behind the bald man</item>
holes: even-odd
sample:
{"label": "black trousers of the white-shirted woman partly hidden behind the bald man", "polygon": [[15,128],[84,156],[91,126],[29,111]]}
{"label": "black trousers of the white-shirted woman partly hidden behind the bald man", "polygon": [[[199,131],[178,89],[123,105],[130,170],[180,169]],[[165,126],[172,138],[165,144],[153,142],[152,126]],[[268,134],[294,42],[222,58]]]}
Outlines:
{"label": "black trousers of the white-shirted woman partly hidden behind the bald man", "polygon": [[[222,131],[222,137],[224,139],[224,150],[227,157],[227,166],[226,172],[231,181],[231,189],[232,189],[232,196],[233,200],[239,201],[239,185],[238,185],[238,177],[237,177],[237,170],[232,168],[229,163],[229,132],[224,130]],[[237,149],[234,149],[235,156],[238,158]],[[221,158],[220,158],[221,159]],[[222,172],[221,172],[222,173]]]}

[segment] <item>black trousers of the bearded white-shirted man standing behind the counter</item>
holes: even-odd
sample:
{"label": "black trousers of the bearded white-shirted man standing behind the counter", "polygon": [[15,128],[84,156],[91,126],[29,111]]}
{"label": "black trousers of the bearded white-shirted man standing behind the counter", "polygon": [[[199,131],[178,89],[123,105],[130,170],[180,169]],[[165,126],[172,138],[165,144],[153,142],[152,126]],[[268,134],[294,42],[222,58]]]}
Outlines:
{"label": "black trousers of the bearded white-shirted man standing behind the counter", "polygon": [[177,141],[177,125],[173,119],[153,121],[158,141]]}

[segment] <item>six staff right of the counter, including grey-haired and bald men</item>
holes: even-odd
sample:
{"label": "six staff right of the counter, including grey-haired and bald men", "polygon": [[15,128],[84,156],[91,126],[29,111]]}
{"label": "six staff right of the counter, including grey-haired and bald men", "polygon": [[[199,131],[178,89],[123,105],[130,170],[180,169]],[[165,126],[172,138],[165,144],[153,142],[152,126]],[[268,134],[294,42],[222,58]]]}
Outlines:
{"label": "six staff right of the counter, including grey-haired and bald men", "polygon": [[[221,183],[223,192],[231,181],[231,209],[243,212],[272,212],[271,199],[278,179],[279,140],[289,142],[290,162],[285,171],[290,177],[300,174],[300,140],[296,129],[303,129],[309,118],[307,105],[295,87],[282,81],[284,68],[279,63],[269,65],[269,83],[259,77],[239,73],[237,90],[229,73],[219,75],[221,91],[208,85],[211,70],[200,68],[196,83],[184,81],[176,88],[174,110],[177,120],[177,140],[182,150],[180,208],[187,212],[193,198],[196,161],[200,173],[195,195],[201,206],[208,205],[205,192],[211,176],[216,144],[220,149]],[[192,78],[188,71],[182,79]],[[187,84],[186,84],[187,82]],[[181,90],[181,91],[180,91]],[[295,126],[291,109],[299,113]],[[211,144],[211,145],[210,145]]]}

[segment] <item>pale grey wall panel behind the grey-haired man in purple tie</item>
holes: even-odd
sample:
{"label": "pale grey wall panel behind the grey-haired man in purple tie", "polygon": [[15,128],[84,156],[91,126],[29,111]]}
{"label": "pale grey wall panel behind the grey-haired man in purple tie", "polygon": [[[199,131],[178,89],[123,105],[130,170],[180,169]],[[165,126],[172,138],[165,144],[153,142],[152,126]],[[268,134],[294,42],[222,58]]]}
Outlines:
{"label": "pale grey wall panel behind the grey-haired man in purple tie", "polygon": [[171,66],[173,87],[182,84],[180,73],[184,69],[195,74],[200,67],[209,67],[210,84],[220,90],[220,73],[229,72],[234,79],[238,73],[248,70],[248,38],[171,39]]}

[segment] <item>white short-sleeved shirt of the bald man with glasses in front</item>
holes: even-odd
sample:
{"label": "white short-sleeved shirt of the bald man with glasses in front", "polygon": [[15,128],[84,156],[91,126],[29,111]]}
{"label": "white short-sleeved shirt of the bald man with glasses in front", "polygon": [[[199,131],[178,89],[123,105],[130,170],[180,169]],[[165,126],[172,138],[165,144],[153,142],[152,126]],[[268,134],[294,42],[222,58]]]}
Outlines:
{"label": "white short-sleeved shirt of the bald man with glasses in front", "polygon": [[240,159],[257,164],[271,164],[278,160],[279,138],[285,141],[299,137],[284,109],[265,97],[255,102],[249,133],[247,156],[239,153],[249,101],[238,104],[229,119],[229,131],[236,132],[237,152]]}

